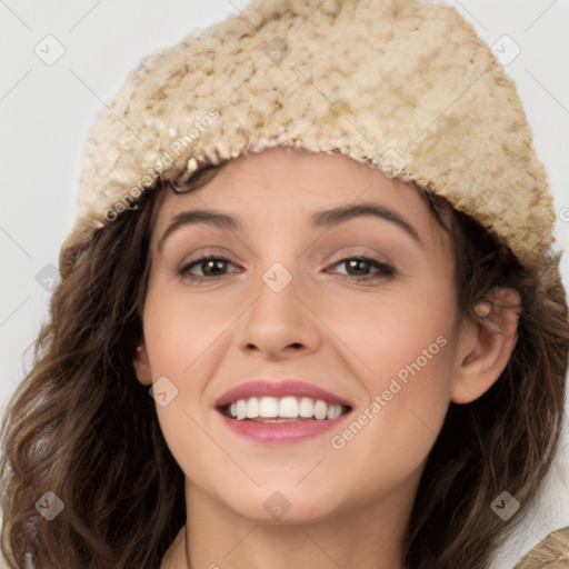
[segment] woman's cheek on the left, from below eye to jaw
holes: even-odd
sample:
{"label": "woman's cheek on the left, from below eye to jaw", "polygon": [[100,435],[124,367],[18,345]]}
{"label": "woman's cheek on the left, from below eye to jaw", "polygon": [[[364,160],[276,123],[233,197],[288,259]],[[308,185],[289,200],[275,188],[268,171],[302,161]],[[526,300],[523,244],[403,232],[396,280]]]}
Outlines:
{"label": "woman's cheek on the left, from below eye to jaw", "polygon": [[150,283],[143,313],[152,378],[166,377],[173,386],[168,405],[156,406],[160,428],[182,470],[197,479],[206,476],[208,465],[223,460],[204,432],[203,392],[224,357],[223,332],[242,312],[241,305],[232,307],[220,302],[219,296],[209,297],[190,297],[179,286]]}

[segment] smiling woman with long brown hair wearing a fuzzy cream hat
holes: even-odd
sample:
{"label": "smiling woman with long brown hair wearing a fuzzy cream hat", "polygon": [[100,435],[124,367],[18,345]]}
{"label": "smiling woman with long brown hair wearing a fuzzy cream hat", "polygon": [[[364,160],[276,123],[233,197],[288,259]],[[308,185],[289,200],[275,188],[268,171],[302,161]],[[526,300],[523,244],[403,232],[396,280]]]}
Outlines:
{"label": "smiling woman with long brown hair wearing a fuzzy cream hat", "polygon": [[4,422],[4,555],[487,567],[557,450],[569,349],[513,84],[450,8],[243,14],[91,129]]}

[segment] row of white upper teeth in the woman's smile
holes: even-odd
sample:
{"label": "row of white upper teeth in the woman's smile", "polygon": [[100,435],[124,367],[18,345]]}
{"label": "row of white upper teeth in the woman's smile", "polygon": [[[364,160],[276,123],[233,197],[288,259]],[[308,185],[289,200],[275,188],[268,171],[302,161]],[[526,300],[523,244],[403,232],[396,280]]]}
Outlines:
{"label": "row of white upper teeth in the woman's smile", "polygon": [[[310,419],[317,420],[336,419],[342,415],[341,405],[329,405],[322,399],[313,400],[310,397],[296,398],[293,396],[276,397],[250,397],[238,399],[228,409],[228,416],[237,420],[243,419]],[[276,421],[268,421],[276,422]],[[278,421],[280,422],[280,421]]]}

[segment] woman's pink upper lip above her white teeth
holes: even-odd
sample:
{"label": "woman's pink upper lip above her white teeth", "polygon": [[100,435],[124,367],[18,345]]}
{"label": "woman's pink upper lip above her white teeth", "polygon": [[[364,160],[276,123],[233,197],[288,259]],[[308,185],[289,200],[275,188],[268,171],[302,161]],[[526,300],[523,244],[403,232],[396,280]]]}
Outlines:
{"label": "woman's pink upper lip above her white teeth", "polygon": [[246,381],[223,393],[216,401],[216,407],[224,407],[233,403],[238,399],[248,399],[249,397],[280,398],[286,396],[310,397],[312,399],[321,399],[331,405],[352,407],[352,403],[347,399],[338,397],[321,387],[298,379],[282,379],[279,381],[253,379]]}

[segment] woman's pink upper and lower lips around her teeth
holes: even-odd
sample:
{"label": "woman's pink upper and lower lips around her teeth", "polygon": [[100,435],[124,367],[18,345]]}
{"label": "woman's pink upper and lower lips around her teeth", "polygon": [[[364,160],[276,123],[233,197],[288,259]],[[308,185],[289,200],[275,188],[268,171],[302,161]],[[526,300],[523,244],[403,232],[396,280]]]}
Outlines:
{"label": "woman's pink upper and lower lips around her teeth", "polygon": [[[327,403],[342,405],[353,407],[350,401],[342,399],[325,389],[298,381],[287,379],[283,381],[271,382],[262,379],[248,381],[230,389],[216,401],[216,408],[222,411],[222,408],[237,401],[238,399],[248,399],[250,397],[310,397],[321,399]],[[250,419],[237,420],[226,417],[220,412],[224,425],[234,433],[260,445],[292,445],[323,435],[350,415],[348,411],[336,419],[303,419],[290,422],[262,422]]]}

